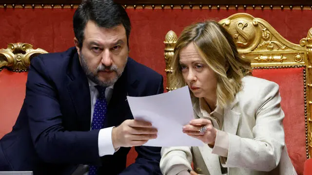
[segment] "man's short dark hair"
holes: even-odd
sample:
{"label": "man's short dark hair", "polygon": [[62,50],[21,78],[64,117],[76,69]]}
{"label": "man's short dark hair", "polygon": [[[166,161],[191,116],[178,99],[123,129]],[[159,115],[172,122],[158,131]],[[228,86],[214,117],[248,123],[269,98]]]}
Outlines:
{"label": "man's short dark hair", "polygon": [[82,0],[73,18],[74,33],[79,48],[82,47],[84,29],[89,20],[106,29],[122,24],[126,29],[127,45],[129,47],[131,24],[127,12],[121,5],[113,0]]}

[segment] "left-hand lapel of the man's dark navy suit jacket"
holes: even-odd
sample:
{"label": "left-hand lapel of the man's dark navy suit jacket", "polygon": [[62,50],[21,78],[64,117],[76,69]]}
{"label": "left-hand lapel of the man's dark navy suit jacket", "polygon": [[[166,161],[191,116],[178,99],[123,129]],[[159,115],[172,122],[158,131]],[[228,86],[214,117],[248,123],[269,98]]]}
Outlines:
{"label": "left-hand lapel of the man's dark navy suit jacket", "polygon": [[71,60],[72,67],[68,70],[69,83],[67,85],[68,93],[75,107],[78,116],[78,128],[83,131],[90,130],[91,117],[91,98],[88,79],[81,68],[78,53]]}

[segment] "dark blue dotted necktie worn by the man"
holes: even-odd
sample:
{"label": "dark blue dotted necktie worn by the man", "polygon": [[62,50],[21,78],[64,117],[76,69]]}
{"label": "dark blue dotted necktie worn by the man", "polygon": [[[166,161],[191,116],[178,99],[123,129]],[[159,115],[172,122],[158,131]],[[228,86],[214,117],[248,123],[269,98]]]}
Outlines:
{"label": "dark blue dotted necktie worn by the man", "polygon": [[[91,130],[102,129],[104,127],[104,121],[107,112],[107,101],[105,98],[106,87],[95,86],[98,89],[98,99],[94,105],[93,119],[91,124]],[[89,175],[97,175],[98,167],[94,165],[89,166]]]}

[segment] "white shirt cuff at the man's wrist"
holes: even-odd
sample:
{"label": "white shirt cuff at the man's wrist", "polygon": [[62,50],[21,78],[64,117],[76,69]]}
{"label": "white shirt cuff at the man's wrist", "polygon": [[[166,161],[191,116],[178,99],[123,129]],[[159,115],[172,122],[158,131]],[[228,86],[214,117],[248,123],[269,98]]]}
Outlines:
{"label": "white shirt cuff at the man's wrist", "polygon": [[112,141],[113,127],[100,129],[98,132],[98,155],[99,157],[105,155],[113,155],[115,149]]}

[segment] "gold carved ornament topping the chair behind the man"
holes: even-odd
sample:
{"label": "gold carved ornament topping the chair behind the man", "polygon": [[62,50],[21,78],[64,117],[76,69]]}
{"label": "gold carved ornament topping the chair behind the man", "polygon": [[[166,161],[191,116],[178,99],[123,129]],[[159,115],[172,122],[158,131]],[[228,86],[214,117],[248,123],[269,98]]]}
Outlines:
{"label": "gold carved ornament topping the chair behind the man", "polygon": [[48,53],[43,49],[33,49],[31,44],[10,43],[7,49],[0,49],[0,70],[4,67],[16,72],[27,71],[31,58]]}

